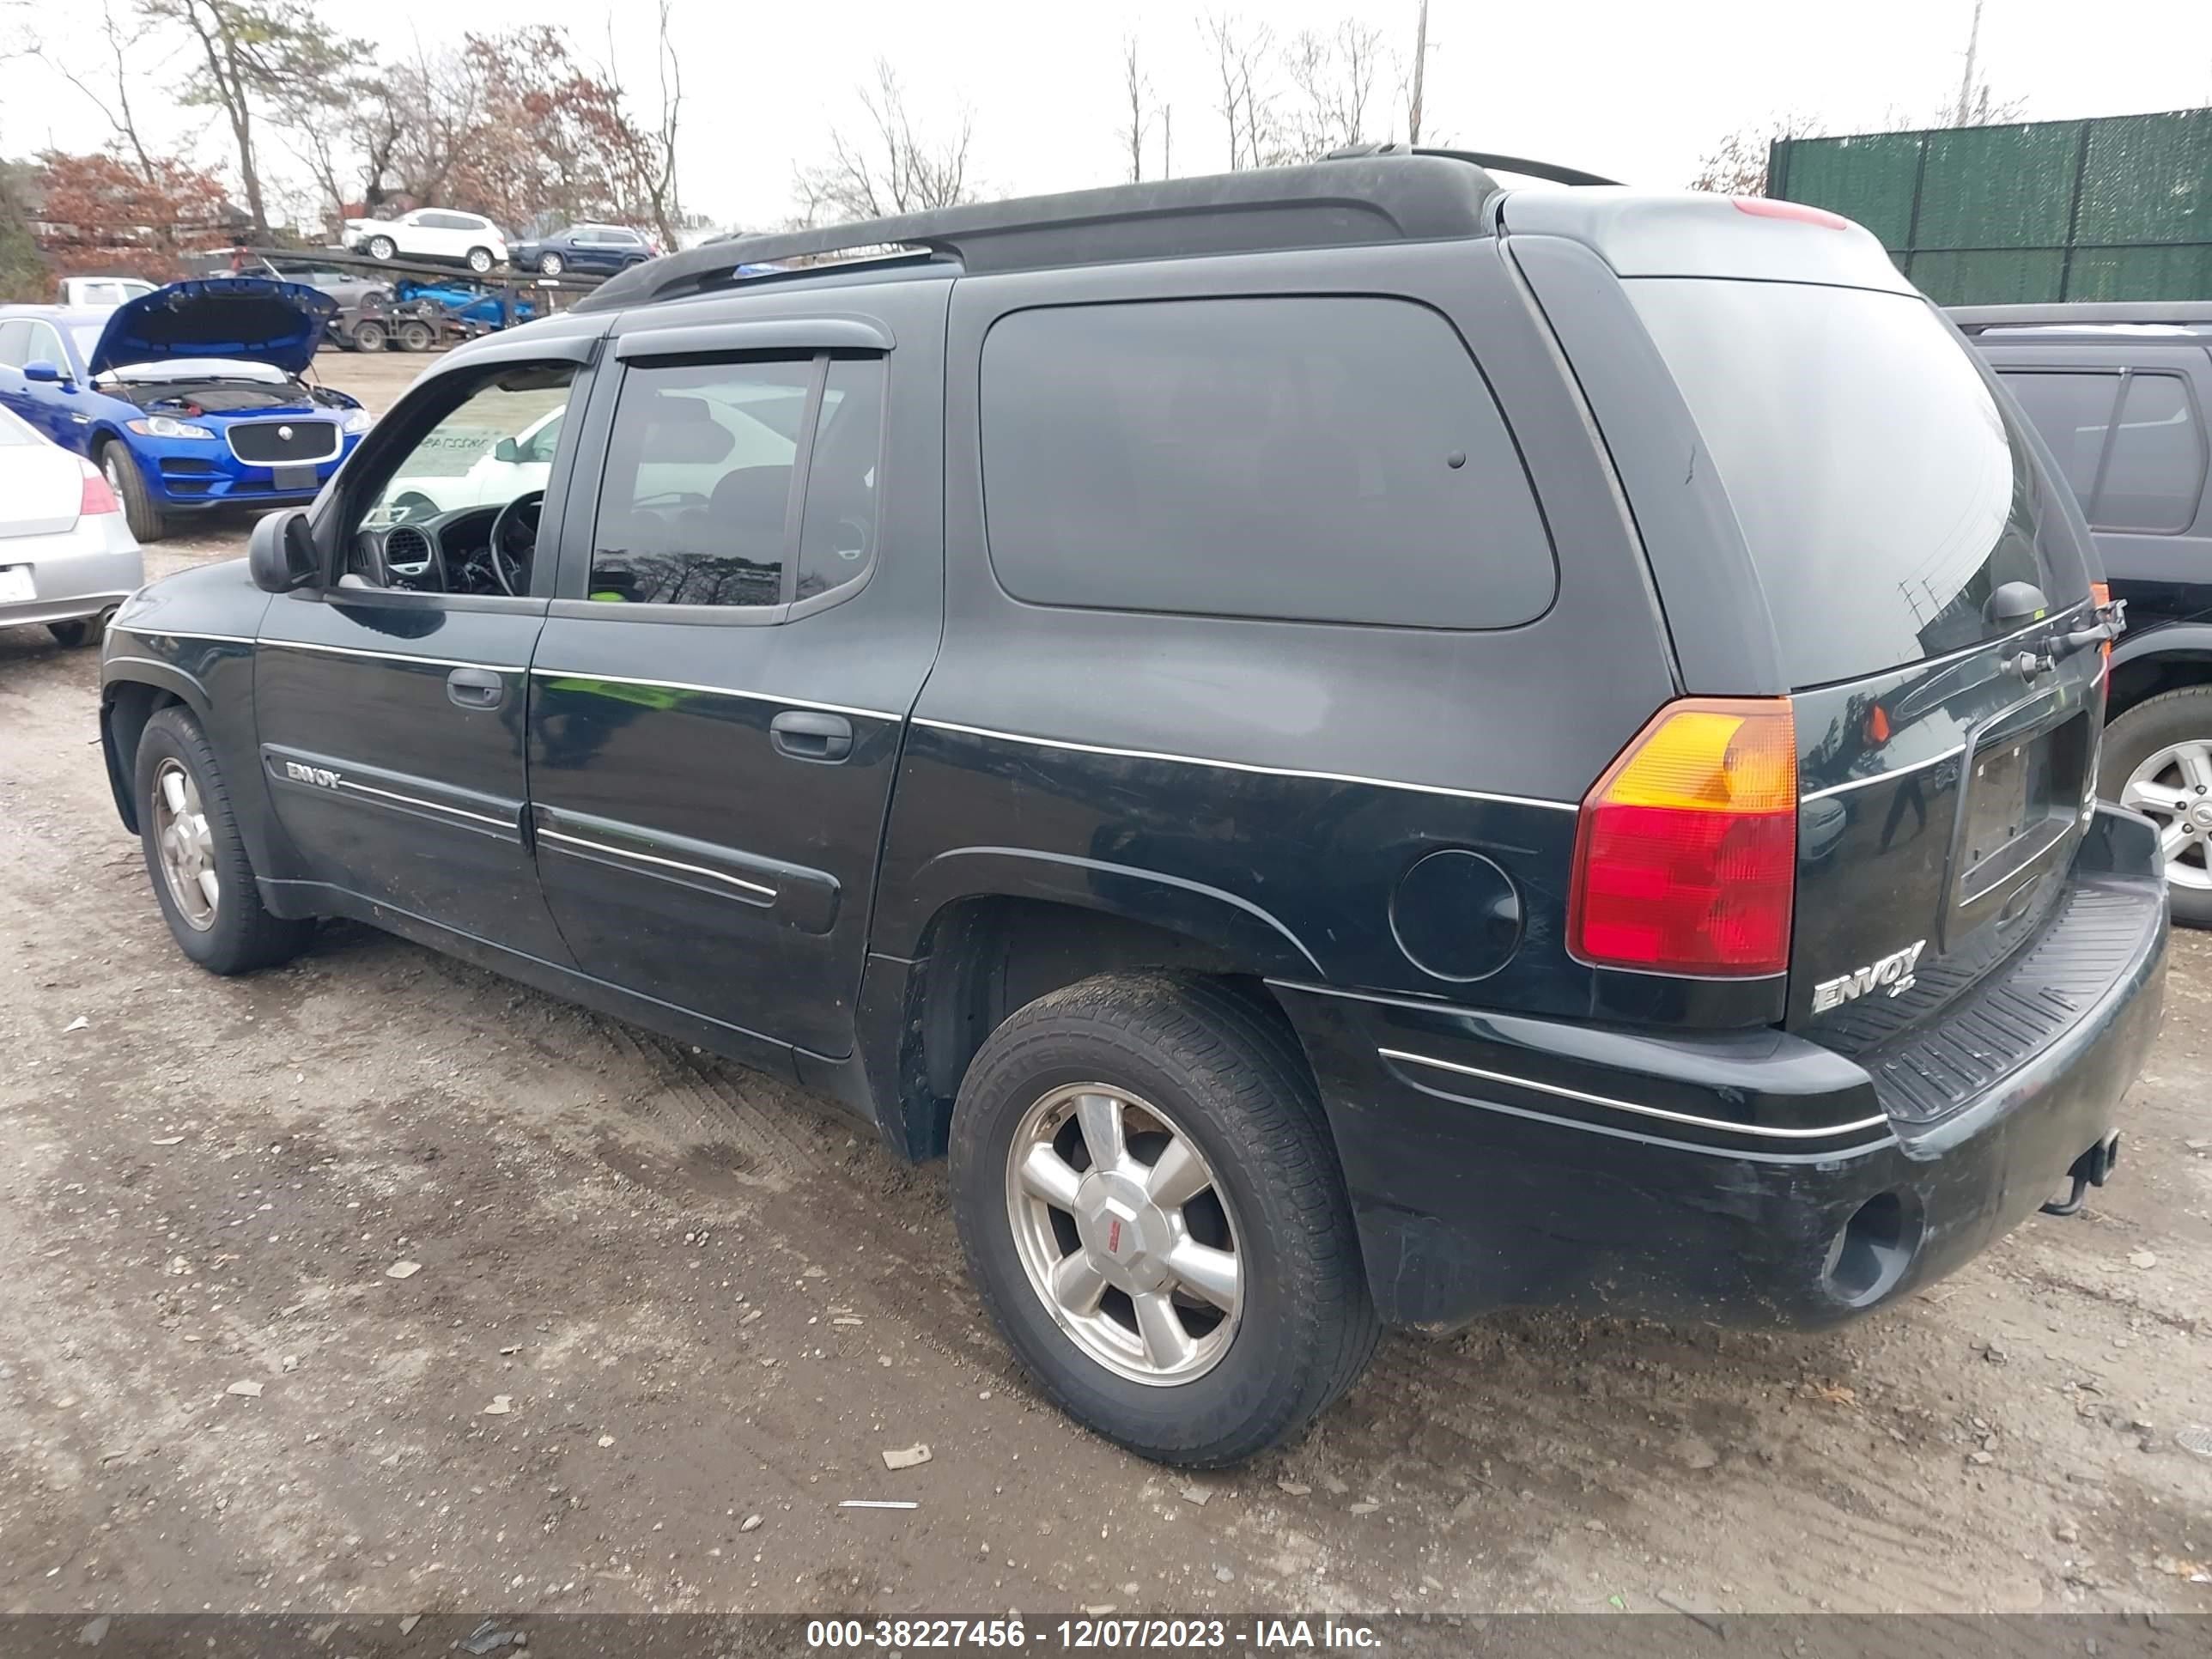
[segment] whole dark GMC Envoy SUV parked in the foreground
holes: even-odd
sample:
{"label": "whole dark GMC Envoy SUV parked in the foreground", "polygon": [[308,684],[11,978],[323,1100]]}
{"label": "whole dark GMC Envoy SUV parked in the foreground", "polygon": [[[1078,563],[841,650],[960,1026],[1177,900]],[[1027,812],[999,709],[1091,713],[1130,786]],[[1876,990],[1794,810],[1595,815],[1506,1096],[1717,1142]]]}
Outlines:
{"label": "whole dark GMC Envoy SUV parked in the foreground", "polygon": [[449,354],[104,730],[197,960],[358,916],[949,1150],[1042,1387],[1217,1464],[1383,1323],[1818,1325],[2104,1179],[2166,900],[2053,476],[1816,210],[980,204]]}

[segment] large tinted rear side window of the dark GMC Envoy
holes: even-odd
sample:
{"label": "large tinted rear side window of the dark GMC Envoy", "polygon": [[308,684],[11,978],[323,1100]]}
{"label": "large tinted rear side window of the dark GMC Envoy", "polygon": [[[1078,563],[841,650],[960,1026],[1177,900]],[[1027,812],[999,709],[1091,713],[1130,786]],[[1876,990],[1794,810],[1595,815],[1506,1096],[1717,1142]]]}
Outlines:
{"label": "large tinted rear side window of the dark GMC Envoy", "polygon": [[1482,374],[1409,301],[1015,312],[982,460],[991,564],[1033,604],[1502,628],[1555,588]]}

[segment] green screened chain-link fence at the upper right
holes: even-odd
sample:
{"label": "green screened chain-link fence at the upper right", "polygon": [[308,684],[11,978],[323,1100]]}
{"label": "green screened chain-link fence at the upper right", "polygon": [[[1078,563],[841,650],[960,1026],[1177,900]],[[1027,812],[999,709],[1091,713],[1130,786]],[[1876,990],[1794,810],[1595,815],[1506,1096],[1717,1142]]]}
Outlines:
{"label": "green screened chain-link fence at the upper right", "polygon": [[2212,299],[2212,108],[1781,139],[1767,195],[1856,219],[1944,305]]}

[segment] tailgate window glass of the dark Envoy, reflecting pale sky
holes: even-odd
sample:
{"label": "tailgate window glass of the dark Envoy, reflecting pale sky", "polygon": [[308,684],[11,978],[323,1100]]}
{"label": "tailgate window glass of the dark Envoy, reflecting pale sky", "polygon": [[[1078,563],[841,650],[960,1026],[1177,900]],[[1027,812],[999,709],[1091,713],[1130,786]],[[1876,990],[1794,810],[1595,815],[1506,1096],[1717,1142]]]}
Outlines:
{"label": "tailgate window glass of the dark Envoy, reflecting pale sky", "polygon": [[1982,367],[1916,294],[1644,276],[1626,283],[1743,526],[1794,686],[2011,633],[2088,566]]}

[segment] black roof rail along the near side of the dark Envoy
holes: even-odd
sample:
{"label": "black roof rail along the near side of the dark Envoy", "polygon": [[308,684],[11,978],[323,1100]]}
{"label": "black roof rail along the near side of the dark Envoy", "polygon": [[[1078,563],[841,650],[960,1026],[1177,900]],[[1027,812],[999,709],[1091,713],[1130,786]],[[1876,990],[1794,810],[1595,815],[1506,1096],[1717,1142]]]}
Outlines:
{"label": "black roof rail along the near side of the dark Envoy", "polygon": [[1460,166],[1467,157],[1442,157],[1378,153],[730,237],[633,265],[573,310],[650,305],[743,281],[741,265],[883,248],[987,272],[1480,234],[1500,186]]}

